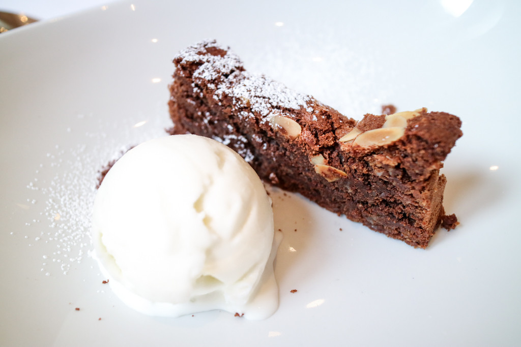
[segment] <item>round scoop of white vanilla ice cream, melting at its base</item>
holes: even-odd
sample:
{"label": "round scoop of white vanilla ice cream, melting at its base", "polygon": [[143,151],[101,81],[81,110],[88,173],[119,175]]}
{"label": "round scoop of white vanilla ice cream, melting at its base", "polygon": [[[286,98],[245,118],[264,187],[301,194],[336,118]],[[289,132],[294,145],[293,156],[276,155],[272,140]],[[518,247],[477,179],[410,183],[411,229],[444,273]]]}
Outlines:
{"label": "round scoop of white vanilla ice cream, melting at its base", "polygon": [[270,307],[251,316],[265,318],[278,305],[271,199],[251,166],[213,139],[174,135],[129,150],[97,192],[92,235],[111,288],[138,311],[248,317],[263,297]]}

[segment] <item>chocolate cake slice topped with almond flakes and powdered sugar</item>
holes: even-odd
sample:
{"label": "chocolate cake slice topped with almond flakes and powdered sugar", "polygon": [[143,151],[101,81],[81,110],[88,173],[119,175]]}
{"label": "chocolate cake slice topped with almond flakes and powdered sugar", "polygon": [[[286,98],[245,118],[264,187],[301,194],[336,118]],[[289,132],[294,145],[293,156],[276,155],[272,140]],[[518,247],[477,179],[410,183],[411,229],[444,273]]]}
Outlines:
{"label": "chocolate cake slice topped with almond flakes and powdered sugar", "polygon": [[[357,122],[264,75],[215,41],[173,60],[172,134],[212,137],[261,178],[377,232],[425,248],[441,223],[442,160],[461,121],[425,108]],[[457,223],[445,218],[449,227]]]}

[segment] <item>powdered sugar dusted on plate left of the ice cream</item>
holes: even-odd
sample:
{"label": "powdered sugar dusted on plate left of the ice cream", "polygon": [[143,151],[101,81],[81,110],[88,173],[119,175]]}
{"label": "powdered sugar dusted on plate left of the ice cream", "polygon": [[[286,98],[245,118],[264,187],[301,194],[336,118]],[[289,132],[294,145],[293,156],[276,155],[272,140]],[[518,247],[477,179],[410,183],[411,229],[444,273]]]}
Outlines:
{"label": "powdered sugar dusted on plate left of the ice cream", "polygon": [[[83,120],[93,123],[95,119],[92,114],[77,116],[80,124]],[[122,136],[111,138],[102,131],[110,125],[101,119],[98,121],[100,131],[76,132],[75,127],[67,127],[67,133],[76,133],[77,145],[58,144],[47,152],[36,164],[34,178],[26,186],[29,189],[27,202],[34,205],[35,214],[25,223],[27,229],[22,236],[28,240],[28,246],[42,250],[40,272],[44,276],[65,275],[88,256],[98,170],[131,145],[164,135],[164,127],[159,124],[149,130],[140,128],[139,134],[130,131],[138,121],[129,120],[128,130],[122,129]],[[113,127],[120,128],[120,125]],[[16,237],[17,233],[11,235]]]}

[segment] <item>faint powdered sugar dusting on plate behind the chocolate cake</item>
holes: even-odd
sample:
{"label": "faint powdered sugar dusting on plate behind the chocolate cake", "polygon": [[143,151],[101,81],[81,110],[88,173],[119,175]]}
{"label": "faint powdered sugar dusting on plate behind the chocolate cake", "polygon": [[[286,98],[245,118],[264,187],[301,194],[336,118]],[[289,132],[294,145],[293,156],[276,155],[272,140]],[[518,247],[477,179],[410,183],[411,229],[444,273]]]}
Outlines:
{"label": "faint powdered sugar dusting on plate behind the chocolate cake", "polygon": [[354,119],[377,114],[399,98],[402,79],[381,64],[392,50],[361,40],[356,31],[304,21],[263,34],[268,35],[263,40],[237,45],[248,71],[265,73]]}

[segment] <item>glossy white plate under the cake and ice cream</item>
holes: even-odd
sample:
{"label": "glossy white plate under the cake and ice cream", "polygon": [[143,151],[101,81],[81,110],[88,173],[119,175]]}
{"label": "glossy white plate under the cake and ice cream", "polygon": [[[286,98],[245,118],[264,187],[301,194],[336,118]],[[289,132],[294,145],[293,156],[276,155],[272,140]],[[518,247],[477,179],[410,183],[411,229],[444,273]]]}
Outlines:
{"label": "glossy white plate under the cake and ice cream", "polygon": [[[520,344],[519,4],[464,3],[135,1],[0,35],[0,345]],[[88,255],[96,171],[164,134],[171,58],[207,37],[354,118],[459,115],[443,172],[461,225],[414,249],[275,191],[273,316],[123,305]]]}

